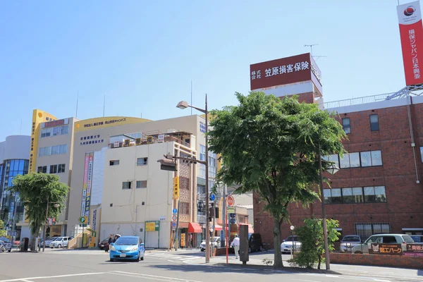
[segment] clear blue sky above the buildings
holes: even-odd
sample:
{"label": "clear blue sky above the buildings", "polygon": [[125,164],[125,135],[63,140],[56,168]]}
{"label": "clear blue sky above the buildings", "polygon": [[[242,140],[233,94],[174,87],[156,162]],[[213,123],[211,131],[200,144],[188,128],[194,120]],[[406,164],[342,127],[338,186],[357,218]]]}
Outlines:
{"label": "clear blue sky above the buildings", "polygon": [[[407,1],[400,0],[400,4]],[[0,141],[58,118],[190,114],[236,104],[250,64],[313,48],[324,100],[405,86],[397,0],[1,1]],[[195,113],[195,111],[194,111]],[[193,113],[193,114],[194,114]]]}

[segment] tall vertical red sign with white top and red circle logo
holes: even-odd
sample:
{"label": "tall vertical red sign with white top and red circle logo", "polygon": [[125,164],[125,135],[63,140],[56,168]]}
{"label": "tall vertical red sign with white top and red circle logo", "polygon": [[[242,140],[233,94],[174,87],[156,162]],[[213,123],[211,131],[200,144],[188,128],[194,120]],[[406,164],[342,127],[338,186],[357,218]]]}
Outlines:
{"label": "tall vertical red sign with white top and red circle logo", "polygon": [[[406,85],[423,83],[423,27],[419,1],[397,6]],[[422,54],[421,56],[419,54]],[[423,69],[422,69],[423,71]]]}

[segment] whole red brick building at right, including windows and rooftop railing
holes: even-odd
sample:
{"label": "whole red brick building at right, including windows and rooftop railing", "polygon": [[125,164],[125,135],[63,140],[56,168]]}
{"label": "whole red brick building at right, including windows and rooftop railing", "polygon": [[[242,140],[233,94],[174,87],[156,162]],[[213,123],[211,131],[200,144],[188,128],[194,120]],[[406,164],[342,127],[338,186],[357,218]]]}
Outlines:
{"label": "whole red brick building at right, including windows and rooftop railing", "polygon": [[[310,102],[308,96],[300,94],[300,100]],[[338,113],[348,135],[344,146],[349,154],[343,159],[329,156],[340,171],[324,173],[331,183],[331,189],[324,189],[326,217],[339,221],[341,235],[423,233],[423,97],[391,97],[324,104],[324,109]],[[255,232],[264,243],[273,244],[273,219],[262,211],[256,196]],[[321,203],[308,209],[291,204],[289,212],[291,223],[300,226],[307,217],[321,217]],[[281,239],[290,234],[289,226],[283,224]]]}

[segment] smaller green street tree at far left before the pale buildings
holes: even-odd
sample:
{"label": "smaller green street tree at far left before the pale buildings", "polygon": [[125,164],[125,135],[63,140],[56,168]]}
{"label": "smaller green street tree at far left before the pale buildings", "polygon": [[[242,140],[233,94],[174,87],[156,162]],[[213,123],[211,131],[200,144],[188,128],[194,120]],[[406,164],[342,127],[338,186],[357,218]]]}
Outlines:
{"label": "smaller green street tree at far left before the pale buildings", "polygon": [[8,190],[19,193],[32,235],[39,236],[40,229],[47,223],[47,209],[47,218],[56,218],[63,211],[69,187],[59,182],[59,176],[54,174],[30,173],[16,176]]}

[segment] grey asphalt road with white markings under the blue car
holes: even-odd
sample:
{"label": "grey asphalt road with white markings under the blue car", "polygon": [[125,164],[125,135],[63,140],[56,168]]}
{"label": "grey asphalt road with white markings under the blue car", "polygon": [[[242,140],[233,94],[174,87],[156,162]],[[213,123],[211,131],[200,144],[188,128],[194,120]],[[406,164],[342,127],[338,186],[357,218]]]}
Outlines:
{"label": "grey asphalt road with white markings under the blue car", "polygon": [[[185,255],[184,255],[185,254]],[[0,253],[0,282],[85,282],[85,281],[168,281],[168,282],[331,282],[341,276],[293,274],[238,267],[188,264],[204,253],[151,252],[142,262],[109,262],[99,250],[47,250],[45,253]],[[343,281],[384,281],[376,278],[342,276]]]}

